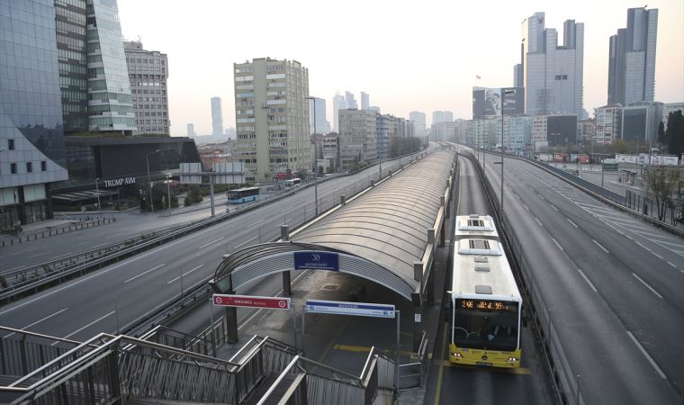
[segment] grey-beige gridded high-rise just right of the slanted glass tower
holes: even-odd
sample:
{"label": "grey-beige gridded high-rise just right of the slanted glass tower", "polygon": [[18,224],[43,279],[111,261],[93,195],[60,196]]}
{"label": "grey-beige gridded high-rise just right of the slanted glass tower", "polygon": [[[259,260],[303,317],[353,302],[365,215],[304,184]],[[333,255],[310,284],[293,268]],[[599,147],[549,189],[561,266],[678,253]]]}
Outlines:
{"label": "grey-beige gridded high-rise just right of the slanted glass tower", "polygon": [[166,53],[145,50],[139,41],[124,41],[126,64],[129,70],[130,94],[133,99],[136,126],[133,135],[157,133],[170,135],[166,78]]}

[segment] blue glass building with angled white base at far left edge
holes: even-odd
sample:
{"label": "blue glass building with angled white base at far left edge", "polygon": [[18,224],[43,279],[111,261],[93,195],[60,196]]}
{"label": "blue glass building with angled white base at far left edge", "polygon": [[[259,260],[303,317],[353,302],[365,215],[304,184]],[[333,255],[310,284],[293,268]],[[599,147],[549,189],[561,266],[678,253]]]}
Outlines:
{"label": "blue glass building with angled white base at far left edge", "polygon": [[52,218],[49,192],[67,180],[67,161],[54,0],[4,2],[0,22],[0,230],[6,230]]}

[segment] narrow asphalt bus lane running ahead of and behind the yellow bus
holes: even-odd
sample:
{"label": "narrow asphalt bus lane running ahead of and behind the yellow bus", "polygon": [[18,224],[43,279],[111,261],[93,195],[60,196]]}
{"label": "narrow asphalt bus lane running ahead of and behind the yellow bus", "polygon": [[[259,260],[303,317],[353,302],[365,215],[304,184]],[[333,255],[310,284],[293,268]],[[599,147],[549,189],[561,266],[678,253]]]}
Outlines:
{"label": "narrow asphalt bus lane running ahead of and behind the yellow bus", "polygon": [[[461,166],[458,195],[458,215],[489,215],[482,183],[473,163],[459,157]],[[453,233],[453,224],[450,224]],[[530,328],[522,330],[522,363],[515,370],[499,370],[455,366],[448,363],[446,323],[440,328],[440,340],[428,380],[425,404],[549,404],[555,403],[546,367]]]}

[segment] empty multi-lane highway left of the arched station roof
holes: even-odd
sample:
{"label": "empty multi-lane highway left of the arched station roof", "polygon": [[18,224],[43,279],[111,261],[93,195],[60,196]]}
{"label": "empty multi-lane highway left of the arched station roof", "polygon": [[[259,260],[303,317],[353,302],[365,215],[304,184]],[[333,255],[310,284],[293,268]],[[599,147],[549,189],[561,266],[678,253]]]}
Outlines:
{"label": "empty multi-lane highway left of the arched station roof", "polygon": [[[385,175],[391,165],[391,162],[383,163]],[[377,178],[377,172],[378,167],[374,166],[356,175],[320,184],[320,206],[337,203],[342,193],[351,195],[355,188],[360,190],[362,179]],[[314,188],[302,189],[279,202],[5,305],[0,308],[0,325],[76,340],[85,340],[101,331],[114,332],[177,296],[184,288],[206,282],[226,252],[275,238],[283,223],[293,225],[305,218],[311,219],[313,200]],[[57,244],[59,238],[62,237],[46,240]],[[55,248],[56,254],[63,254],[59,251],[62,247]],[[25,255],[31,251],[32,247]],[[247,293],[271,294],[272,287],[259,283]]]}

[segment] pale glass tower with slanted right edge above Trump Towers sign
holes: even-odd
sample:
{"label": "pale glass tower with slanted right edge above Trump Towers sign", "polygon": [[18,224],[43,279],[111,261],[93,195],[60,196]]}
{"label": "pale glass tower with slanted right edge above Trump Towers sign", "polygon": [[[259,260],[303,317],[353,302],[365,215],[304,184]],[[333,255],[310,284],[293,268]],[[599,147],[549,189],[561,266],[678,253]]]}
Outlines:
{"label": "pale glass tower with slanted right edge above Trump Towers sign", "polygon": [[116,1],[85,3],[88,130],[130,135],[136,130]]}

